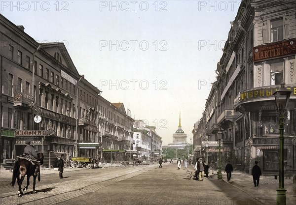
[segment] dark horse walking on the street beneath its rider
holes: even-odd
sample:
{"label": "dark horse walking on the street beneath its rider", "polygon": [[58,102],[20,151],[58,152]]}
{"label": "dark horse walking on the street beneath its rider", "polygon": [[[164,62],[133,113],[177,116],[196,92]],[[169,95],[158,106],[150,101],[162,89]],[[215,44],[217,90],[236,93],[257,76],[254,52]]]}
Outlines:
{"label": "dark horse walking on the street beneath its rider", "polygon": [[[40,165],[43,164],[43,153],[37,153],[37,160],[40,161]],[[27,186],[24,187],[24,191],[27,191],[28,186],[30,184],[30,176],[33,176],[33,193],[37,193],[35,190],[35,184],[36,184],[36,177],[34,175],[35,170],[36,170],[37,165],[33,165],[32,162],[30,162],[27,159],[23,158],[18,158],[18,160],[15,162],[14,168],[13,168],[13,174],[12,174],[12,181],[11,181],[11,186],[13,187],[15,184],[15,180],[17,179],[17,184],[19,185],[19,191],[18,191],[18,196],[23,195],[22,191],[22,182],[27,175]],[[39,180],[39,178],[38,178]]]}

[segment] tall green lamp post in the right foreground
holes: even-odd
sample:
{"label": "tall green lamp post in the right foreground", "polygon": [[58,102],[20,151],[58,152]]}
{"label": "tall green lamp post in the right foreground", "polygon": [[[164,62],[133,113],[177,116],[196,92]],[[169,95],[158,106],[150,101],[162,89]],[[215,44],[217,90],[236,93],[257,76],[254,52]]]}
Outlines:
{"label": "tall green lamp post in the right foreground", "polygon": [[281,83],[281,88],[276,90],[273,95],[275,97],[276,106],[280,114],[279,117],[279,130],[280,130],[280,159],[279,159],[279,188],[276,189],[276,205],[286,205],[286,191],[284,188],[284,113],[290,99],[291,90],[285,88],[285,83]]}

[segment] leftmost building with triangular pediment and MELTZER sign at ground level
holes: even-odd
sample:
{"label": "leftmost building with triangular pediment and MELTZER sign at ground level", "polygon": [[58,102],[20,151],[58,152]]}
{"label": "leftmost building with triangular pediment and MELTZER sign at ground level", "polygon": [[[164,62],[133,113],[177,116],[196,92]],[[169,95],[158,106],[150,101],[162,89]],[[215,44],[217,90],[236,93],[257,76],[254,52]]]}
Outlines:
{"label": "leftmost building with triangular pediment and MELTZER sign at ground level", "polygon": [[73,155],[79,74],[65,45],[39,44],[2,15],[0,38],[1,162],[22,155],[26,139],[45,155]]}

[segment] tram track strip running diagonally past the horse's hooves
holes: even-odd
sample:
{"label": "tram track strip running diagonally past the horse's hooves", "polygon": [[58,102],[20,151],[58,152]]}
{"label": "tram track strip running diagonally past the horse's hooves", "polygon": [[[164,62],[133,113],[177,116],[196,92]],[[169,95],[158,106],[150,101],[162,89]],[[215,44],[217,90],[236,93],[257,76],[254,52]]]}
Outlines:
{"label": "tram track strip running diagonally past the horse's hooves", "polygon": [[[17,197],[17,195],[14,194],[11,195],[11,193],[7,193],[9,195],[5,197],[0,198],[1,205],[32,205],[32,204],[38,204],[38,205],[49,205],[49,204],[67,204],[67,201],[72,199],[73,197],[79,197],[81,195],[91,193],[98,191],[101,188],[104,188],[106,186],[109,186],[111,184],[114,184],[116,182],[141,175],[145,172],[147,172],[150,169],[153,169],[154,166],[147,167],[145,169],[137,169],[137,170],[127,170],[127,173],[122,174],[122,172],[114,172],[110,173],[109,175],[106,175],[104,177],[100,176],[94,176],[91,177],[83,177],[81,179],[75,179],[73,181],[65,181],[63,184],[56,183],[56,184],[50,184],[51,186],[57,186],[57,187],[48,187],[49,191],[45,190],[43,191],[45,194],[50,194],[50,191],[52,189],[60,189],[62,190],[61,193],[54,193],[50,196],[40,196],[42,194],[42,191],[40,191],[37,194],[30,194],[30,195],[24,195],[23,197]],[[74,184],[79,180],[81,180],[80,186],[78,188],[75,188]],[[71,187],[71,185],[73,185]],[[44,186],[43,186],[44,187]],[[73,188],[74,187],[74,188]],[[41,187],[40,187],[41,188]],[[30,190],[30,189],[29,189]],[[38,191],[38,190],[37,190]],[[57,190],[55,190],[57,192]],[[43,194],[44,195],[44,194]],[[27,197],[29,196],[29,197]]]}

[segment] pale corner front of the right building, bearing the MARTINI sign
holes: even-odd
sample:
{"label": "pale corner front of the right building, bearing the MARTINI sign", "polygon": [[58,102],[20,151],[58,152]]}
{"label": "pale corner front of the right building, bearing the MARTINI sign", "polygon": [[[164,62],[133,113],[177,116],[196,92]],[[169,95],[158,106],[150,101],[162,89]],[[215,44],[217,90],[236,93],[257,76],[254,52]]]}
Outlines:
{"label": "pale corner front of the right building, bearing the MARTINI sign", "polygon": [[285,115],[285,169],[296,170],[296,2],[258,0],[250,4],[254,8],[253,38],[246,60],[253,66],[247,73],[247,86],[236,94],[234,108],[245,117],[245,146],[252,151],[252,163],[259,161],[263,172],[278,171],[279,114],[272,93],[284,82],[292,91]]}

